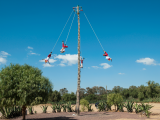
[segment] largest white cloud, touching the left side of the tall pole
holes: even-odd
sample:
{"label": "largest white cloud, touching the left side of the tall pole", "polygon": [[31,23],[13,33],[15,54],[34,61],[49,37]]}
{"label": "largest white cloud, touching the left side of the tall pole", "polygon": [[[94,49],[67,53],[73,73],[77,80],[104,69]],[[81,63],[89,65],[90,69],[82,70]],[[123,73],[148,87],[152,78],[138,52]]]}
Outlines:
{"label": "largest white cloud, touching the left side of the tall pole", "polygon": [[61,63],[59,64],[60,66],[64,66],[64,65],[73,65],[73,64],[77,64],[78,63],[78,55],[77,54],[65,54],[65,55],[57,55],[54,57],[55,59],[61,59]]}

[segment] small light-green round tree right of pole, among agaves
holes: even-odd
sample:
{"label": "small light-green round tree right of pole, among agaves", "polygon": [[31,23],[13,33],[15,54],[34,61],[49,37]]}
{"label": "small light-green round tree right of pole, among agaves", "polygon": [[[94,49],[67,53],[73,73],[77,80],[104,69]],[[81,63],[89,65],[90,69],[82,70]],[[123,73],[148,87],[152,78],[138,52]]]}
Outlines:
{"label": "small light-green round tree right of pole, among agaves", "polygon": [[107,96],[107,102],[111,105],[114,105],[116,110],[116,106],[123,102],[123,98],[120,93],[112,93]]}

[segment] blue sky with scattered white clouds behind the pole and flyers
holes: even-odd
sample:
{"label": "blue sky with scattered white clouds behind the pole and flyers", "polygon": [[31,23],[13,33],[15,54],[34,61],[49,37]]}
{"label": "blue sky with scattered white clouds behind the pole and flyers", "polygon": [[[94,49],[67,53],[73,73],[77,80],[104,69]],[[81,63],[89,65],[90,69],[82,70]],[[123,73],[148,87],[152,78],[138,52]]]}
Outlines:
{"label": "blue sky with scattered white clouds behind the pole and flyers", "polygon": [[[160,83],[160,1],[159,0],[1,0],[0,69],[10,63],[29,64],[42,70],[54,90],[77,89],[78,23],[72,14],[51,57],[51,65],[41,59],[52,51],[72,7],[82,6],[103,48],[113,59],[108,61],[84,13],[80,13],[81,88],[114,86],[128,88]],[[103,63],[103,64],[102,64]],[[63,64],[63,65],[62,65]],[[65,65],[65,66],[64,66]]]}

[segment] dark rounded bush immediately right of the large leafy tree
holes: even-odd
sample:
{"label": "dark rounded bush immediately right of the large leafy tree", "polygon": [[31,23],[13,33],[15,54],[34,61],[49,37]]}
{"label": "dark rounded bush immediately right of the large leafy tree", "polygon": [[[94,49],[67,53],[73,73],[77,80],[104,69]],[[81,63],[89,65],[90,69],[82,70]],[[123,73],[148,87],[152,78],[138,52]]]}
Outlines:
{"label": "dark rounded bush immediately right of the large leafy tree", "polygon": [[60,100],[61,100],[61,94],[57,90],[53,91],[48,99],[48,101],[50,102],[59,102]]}

